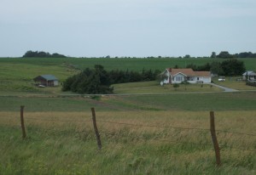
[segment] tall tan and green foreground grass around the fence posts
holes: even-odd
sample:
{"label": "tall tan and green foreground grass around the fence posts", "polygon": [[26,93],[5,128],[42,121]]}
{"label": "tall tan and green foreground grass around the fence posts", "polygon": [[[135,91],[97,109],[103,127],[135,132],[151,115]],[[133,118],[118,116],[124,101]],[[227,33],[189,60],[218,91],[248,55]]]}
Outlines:
{"label": "tall tan and green foreground grass around the fence posts", "polygon": [[[222,167],[216,167],[209,131],[98,122],[102,138],[98,151],[92,123],[61,122],[71,120],[72,112],[47,114],[25,113],[25,140],[20,138],[18,118],[0,118],[1,174],[254,174],[256,170],[256,155],[250,151],[256,143],[249,136],[218,133]],[[73,121],[84,120],[84,112],[76,115]],[[56,121],[26,119],[32,116]],[[209,126],[205,112],[96,111],[96,116],[98,121],[145,126]],[[221,130],[252,133],[255,128],[255,110],[217,112],[216,117]]]}

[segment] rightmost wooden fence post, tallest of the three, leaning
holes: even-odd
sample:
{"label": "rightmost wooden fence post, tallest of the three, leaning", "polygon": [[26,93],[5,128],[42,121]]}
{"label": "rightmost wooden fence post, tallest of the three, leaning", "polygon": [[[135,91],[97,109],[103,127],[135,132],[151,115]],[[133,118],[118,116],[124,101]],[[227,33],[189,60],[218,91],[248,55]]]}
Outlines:
{"label": "rightmost wooden fence post, tallest of the three, leaning", "polygon": [[215,150],[215,156],[216,156],[216,164],[217,166],[220,166],[220,152],[218,147],[218,140],[215,132],[215,122],[214,122],[214,112],[210,111],[210,128],[211,128],[211,135],[212,135],[212,143]]}

